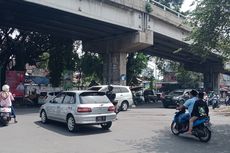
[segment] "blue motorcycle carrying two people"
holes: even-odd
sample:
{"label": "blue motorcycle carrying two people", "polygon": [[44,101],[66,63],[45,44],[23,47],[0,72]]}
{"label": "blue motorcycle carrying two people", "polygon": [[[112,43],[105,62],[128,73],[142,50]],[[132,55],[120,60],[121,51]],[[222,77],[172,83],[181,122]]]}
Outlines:
{"label": "blue motorcycle carrying two people", "polygon": [[[179,135],[189,130],[189,118],[180,122],[179,118],[184,112],[179,111],[175,113],[174,119],[171,123],[171,131],[174,135]],[[192,135],[198,137],[201,142],[208,142],[211,139],[211,129],[209,117],[198,118],[193,123]]]}

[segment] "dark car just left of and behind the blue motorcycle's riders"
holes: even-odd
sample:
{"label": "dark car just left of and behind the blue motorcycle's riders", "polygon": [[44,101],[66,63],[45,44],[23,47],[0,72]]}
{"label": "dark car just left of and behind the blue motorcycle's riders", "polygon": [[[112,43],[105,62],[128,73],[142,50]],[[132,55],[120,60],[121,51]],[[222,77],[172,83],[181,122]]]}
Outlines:
{"label": "dark car just left of and behind the blue motorcycle's riders", "polygon": [[166,95],[162,101],[163,106],[168,108],[169,106],[176,106],[177,103],[184,104],[189,99],[189,92],[192,89],[177,89]]}

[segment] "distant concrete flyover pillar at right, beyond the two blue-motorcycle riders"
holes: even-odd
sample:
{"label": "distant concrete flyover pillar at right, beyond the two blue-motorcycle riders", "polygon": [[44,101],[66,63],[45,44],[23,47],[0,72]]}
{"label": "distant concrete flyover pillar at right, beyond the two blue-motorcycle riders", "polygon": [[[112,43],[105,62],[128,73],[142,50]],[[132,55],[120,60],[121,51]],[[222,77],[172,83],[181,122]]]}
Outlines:
{"label": "distant concrete flyover pillar at right, beyond the two blue-motorcycle riders", "polygon": [[206,90],[213,90],[219,93],[220,73],[218,72],[205,72],[204,73],[204,88]]}

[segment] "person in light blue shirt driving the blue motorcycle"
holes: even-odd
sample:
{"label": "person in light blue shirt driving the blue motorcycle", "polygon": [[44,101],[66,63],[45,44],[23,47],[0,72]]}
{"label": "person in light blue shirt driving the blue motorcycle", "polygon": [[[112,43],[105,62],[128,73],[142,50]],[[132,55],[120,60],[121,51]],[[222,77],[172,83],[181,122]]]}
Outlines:
{"label": "person in light blue shirt driving the blue motorcycle", "polygon": [[[178,110],[185,110],[185,109],[188,109],[188,113],[185,112],[183,114],[181,114],[180,118],[179,118],[179,122],[180,123],[183,123],[184,121],[187,121],[189,120],[191,114],[192,114],[192,111],[193,111],[193,106],[197,100],[197,91],[196,90],[191,90],[189,92],[189,95],[190,95],[190,99],[186,100],[185,103],[183,105],[180,105],[179,107],[177,107]],[[186,128],[186,127],[183,127],[183,128]]]}

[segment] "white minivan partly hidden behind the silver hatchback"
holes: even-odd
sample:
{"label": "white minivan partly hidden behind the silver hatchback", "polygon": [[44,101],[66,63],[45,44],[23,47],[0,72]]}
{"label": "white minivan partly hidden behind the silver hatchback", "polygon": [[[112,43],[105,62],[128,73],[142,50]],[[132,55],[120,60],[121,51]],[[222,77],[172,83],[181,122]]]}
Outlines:
{"label": "white minivan partly hidden behind the silver hatchback", "polygon": [[[115,101],[118,101],[118,107],[122,111],[126,111],[133,105],[133,95],[131,90],[128,86],[120,86],[120,85],[112,85],[113,92],[116,94]],[[99,85],[99,86],[92,86],[88,88],[88,90],[94,91],[101,91],[106,92],[108,91],[108,85]]]}

